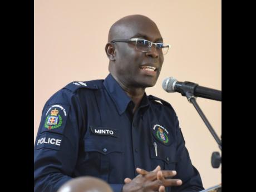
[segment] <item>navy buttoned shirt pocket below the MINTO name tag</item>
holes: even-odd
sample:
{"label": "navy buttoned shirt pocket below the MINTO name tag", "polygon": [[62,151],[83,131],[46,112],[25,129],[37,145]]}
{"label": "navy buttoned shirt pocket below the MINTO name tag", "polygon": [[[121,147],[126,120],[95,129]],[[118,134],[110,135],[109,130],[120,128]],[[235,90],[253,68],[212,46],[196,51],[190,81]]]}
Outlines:
{"label": "navy buttoned shirt pocket below the MINTO name tag", "polygon": [[[119,139],[109,136],[90,136],[84,139],[85,166],[88,175],[109,181],[110,168],[123,161],[124,150]],[[117,161],[119,160],[119,161]]]}

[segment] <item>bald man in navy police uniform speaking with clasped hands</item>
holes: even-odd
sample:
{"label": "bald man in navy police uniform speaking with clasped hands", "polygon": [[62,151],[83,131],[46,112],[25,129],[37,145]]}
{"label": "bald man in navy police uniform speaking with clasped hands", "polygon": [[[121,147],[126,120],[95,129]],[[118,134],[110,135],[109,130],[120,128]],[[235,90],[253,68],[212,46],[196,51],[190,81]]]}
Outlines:
{"label": "bald man in navy police uniform speaking with clasped hands", "polygon": [[105,47],[110,75],[72,82],[43,108],[35,191],[57,191],[85,175],[107,181],[114,191],[204,189],[175,111],[145,93],[155,85],[168,48],[145,16],[127,16],[111,26]]}

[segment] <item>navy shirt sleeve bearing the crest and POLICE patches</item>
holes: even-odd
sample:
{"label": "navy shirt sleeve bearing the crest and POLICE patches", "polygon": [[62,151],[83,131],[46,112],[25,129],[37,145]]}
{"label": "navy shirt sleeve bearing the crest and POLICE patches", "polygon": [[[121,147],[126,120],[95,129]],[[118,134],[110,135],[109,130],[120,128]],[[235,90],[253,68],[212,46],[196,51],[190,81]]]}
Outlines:
{"label": "navy shirt sleeve bearing the crest and POLICE patches", "polygon": [[72,179],[79,147],[79,104],[60,90],[43,107],[34,147],[34,191],[56,192]]}

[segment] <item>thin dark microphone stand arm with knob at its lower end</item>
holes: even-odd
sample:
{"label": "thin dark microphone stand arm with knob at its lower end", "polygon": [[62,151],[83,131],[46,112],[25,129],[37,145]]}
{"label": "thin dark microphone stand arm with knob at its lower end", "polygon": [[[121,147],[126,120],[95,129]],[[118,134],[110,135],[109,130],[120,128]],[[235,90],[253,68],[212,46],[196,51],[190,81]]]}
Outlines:
{"label": "thin dark microphone stand arm with knob at its lower end", "polygon": [[[196,86],[196,85],[195,85]],[[213,135],[215,141],[217,142],[219,149],[221,151],[221,140],[219,139],[218,135],[214,131],[213,127],[211,126],[208,119],[205,117],[203,111],[200,109],[199,105],[196,102],[196,97],[194,96],[194,87],[188,87],[184,92],[181,93],[182,95],[185,95],[188,101],[194,105],[196,111],[198,111],[198,114],[200,115],[201,119],[203,119],[205,125],[208,127],[211,135]],[[211,155],[211,166],[213,168],[219,168],[221,163],[221,156],[219,152],[213,152]]]}

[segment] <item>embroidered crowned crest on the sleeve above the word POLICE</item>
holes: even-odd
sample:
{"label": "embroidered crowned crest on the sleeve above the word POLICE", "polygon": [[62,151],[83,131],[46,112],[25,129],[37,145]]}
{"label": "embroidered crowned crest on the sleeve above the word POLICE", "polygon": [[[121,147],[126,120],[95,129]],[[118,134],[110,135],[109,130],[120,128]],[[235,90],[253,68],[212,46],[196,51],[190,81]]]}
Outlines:
{"label": "embroidered crowned crest on the sleeve above the word POLICE", "polygon": [[51,129],[57,129],[62,125],[62,117],[61,115],[58,115],[58,110],[56,108],[54,110],[51,110],[51,115],[48,115],[46,117],[45,121],[45,127],[48,130]]}

